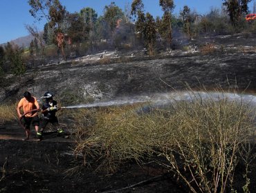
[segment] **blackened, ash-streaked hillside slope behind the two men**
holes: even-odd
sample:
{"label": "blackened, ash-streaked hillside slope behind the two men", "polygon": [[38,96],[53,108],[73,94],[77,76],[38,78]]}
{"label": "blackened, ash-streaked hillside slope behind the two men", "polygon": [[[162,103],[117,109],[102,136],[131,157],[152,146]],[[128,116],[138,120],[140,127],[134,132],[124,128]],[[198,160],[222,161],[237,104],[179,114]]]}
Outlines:
{"label": "blackened, ash-streaked hillside slope behind the two men", "polygon": [[136,51],[107,51],[40,65],[22,77],[7,77],[6,86],[1,85],[0,101],[18,100],[24,90],[37,98],[51,90],[63,105],[74,105],[184,90],[185,83],[196,90],[221,86],[255,93],[255,44],[255,37],[241,35],[202,37],[188,46],[190,50],[162,52],[156,57]]}

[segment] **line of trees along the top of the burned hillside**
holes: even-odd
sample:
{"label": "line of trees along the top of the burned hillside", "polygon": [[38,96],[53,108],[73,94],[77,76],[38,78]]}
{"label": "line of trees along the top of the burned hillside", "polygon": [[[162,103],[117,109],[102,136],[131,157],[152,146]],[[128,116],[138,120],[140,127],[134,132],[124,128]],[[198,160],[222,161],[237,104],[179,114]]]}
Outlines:
{"label": "line of trees along the top of the burned hillside", "polygon": [[[0,46],[0,76],[6,72],[23,74],[29,63],[39,58],[82,56],[107,49],[147,48],[174,49],[176,32],[192,39],[201,34],[230,34],[251,29],[254,23],[244,21],[251,0],[223,0],[222,8],[212,8],[200,15],[184,6],[179,15],[173,14],[173,0],[159,0],[163,15],[154,18],[145,12],[143,0],[134,0],[122,10],[114,2],[104,7],[98,16],[93,8],[68,12],[59,0],[28,0],[30,14],[35,19],[46,19],[44,31],[26,25],[33,35],[29,48],[7,43]],[[250,25],[248,27],[248,25]]]}

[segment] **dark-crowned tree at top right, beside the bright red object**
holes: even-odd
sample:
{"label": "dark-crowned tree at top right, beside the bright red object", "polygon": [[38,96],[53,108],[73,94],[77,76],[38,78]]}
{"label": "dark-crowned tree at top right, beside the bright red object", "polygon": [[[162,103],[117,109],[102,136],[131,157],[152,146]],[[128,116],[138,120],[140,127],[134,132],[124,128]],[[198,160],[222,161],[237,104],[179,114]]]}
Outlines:
{"label": "dark-crowned tree at top right, beside the bright red object", "polygon": [[233,26],[238,26],[241,21],[241,15],[248,13],[248,3],[252,0],[223,0],[223,6],[226,6],[226,10],[230,17],[230,21]]}

